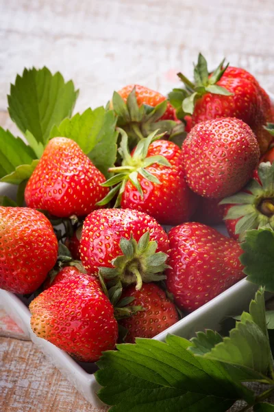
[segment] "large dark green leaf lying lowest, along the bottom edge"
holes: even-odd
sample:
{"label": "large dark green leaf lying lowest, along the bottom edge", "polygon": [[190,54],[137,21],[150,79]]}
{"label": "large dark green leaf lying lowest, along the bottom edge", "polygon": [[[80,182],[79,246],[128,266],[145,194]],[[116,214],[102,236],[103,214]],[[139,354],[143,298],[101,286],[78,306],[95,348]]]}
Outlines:
{"label": "large dark green leaf lying lowest, along the bottom edge", "polygon": [[218,362],[188,352],[190,342],[167,336],[166,343],[137,339],[117,345],[97,363],[95,377],[103,386],[99,398],[115,412],[225,412],[239,398],[253,394],[232,380]]}

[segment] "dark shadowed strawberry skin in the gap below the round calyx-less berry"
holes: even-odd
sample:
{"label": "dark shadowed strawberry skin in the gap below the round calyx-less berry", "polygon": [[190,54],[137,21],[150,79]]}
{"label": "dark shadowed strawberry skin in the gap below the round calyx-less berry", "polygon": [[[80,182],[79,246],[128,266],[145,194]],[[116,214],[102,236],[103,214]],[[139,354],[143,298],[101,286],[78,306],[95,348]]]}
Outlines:
{"label": "dark shadowed strawberry skin in the gap below the round calyx-less berry", "polygon": [[221,199],[199,198],[197,210],[192,216],[193,222],[205,223],[206,225],[218,225],[223,222],[223,209],[219,205]]}

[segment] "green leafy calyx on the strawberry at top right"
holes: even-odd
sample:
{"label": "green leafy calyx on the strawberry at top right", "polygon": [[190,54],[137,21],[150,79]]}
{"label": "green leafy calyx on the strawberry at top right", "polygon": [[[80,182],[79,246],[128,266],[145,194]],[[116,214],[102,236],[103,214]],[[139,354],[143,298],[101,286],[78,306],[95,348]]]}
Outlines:
{"label": "green leafy calyx on the strawberry at top right", "polygon": [[206,93],[225,96],[233,95],[233,93],[230,93],[227,89],[225,89],[225,87],[221,87],[216,84],[217,82],[219,82],[219,80],[223,76],[223,73],[225,73],[225,70],[229,66],[229,63],[227,63],[227,65],[225,66],[224,63],[225,59],[221,61],[221,63],[213,71],[213,73],[209,73],[207,61],[203,57],[203,55],[199,53],[197,65],[194,66],[194,83],[190,82],[190,80],[188,80],[188,78],[186,78],[184,74],[177,73],[179,79],[184,83],[186,91],[188,91],[187,97],[184,97],[184,93],[181,93],[182,109],[184,114],[192,115],[195,108],[195,102]]}

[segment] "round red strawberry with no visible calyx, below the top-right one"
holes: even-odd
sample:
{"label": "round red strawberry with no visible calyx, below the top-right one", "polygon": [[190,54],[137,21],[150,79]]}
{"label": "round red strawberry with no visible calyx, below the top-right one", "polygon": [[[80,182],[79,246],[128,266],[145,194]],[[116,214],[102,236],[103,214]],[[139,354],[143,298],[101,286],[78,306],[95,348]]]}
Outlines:
{"label": "round red strawberry with no visible calyx, below the top-right one", "polygon": [[250,179],[259,157],[251,128],[232,117],[197,124],[182,146],[186,181],[193,192],[208,198],[238,192]]}

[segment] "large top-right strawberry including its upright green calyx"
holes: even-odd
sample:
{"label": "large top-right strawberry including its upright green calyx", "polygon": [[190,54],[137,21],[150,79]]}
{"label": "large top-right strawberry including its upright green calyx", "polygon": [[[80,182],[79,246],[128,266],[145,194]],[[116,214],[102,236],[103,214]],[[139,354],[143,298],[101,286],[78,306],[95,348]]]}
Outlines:
{"label": "large top-right strawberry including its upright green calyx", "polygon": [[184,112],[192,115],[192,127],[218,117],[241,119],[253,130],[264,153],[272,140],[264,129],[272,120],[269,95],[248,71],[223,64],[224,60],[209,75],[206,59],[199,54],[195,84],[178,74],[192,93],[183,101]]}

